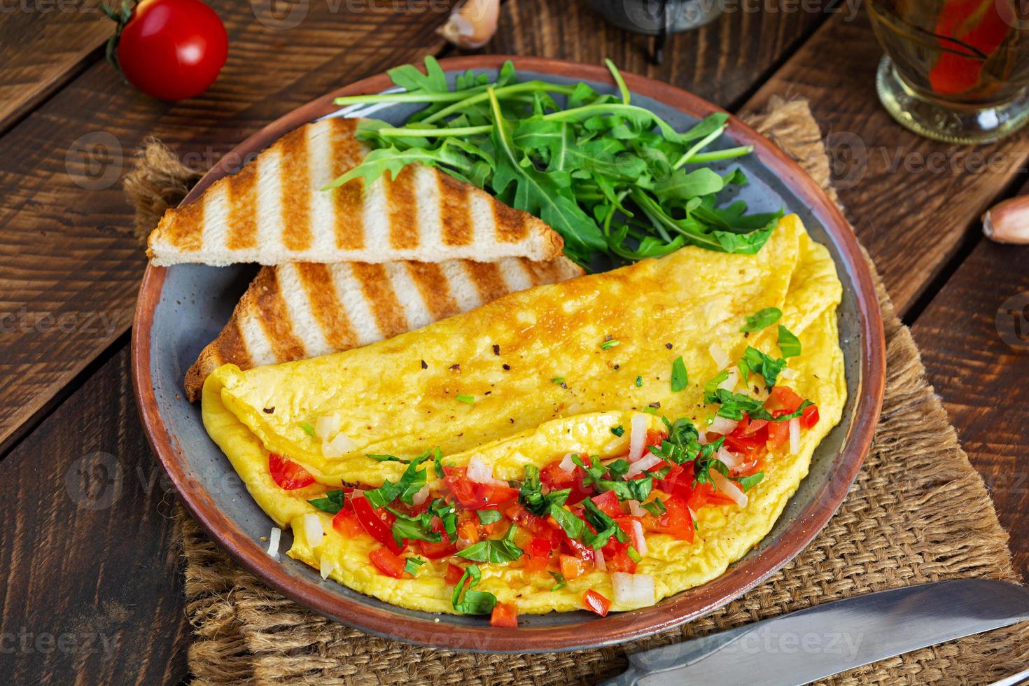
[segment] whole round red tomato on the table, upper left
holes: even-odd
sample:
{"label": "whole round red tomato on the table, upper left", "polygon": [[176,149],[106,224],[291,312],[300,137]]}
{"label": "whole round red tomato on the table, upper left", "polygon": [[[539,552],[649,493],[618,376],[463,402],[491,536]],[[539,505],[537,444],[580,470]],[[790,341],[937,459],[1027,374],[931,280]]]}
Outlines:
{"label": "whole round red tomato on the table, upper left", "polygon": [[142,0],[122,24],[118,67],[130,83],[154,98],[199,96],[225,64],[225,27],[200,0]]}

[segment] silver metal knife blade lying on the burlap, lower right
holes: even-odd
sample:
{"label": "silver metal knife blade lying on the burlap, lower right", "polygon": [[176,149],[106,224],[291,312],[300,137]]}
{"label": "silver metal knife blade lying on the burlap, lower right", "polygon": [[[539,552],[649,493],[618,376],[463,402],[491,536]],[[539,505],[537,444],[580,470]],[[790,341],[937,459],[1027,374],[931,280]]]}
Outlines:
{"label": "silver metal knife blade lying on the burlap, lower right", "polygon": [[801,686],[862,664],[1029,620],[1029,589],[955,579],[824,603],[629,657],[601,686]]}

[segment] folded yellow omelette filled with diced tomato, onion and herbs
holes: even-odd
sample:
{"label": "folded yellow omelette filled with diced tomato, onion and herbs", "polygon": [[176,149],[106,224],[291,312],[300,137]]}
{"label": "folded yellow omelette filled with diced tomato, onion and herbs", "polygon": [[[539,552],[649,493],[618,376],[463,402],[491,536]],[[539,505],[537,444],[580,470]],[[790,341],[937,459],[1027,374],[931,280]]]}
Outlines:
{"label": "folded yellow omelette filled with diced tomato, onion and herbs", "polygon": [[323,578],[497,626],[645,607],[722,574],[807,475],[846,401],[841,295],[789,215],[753,255],[686,247],[224,365],[204,423]]}

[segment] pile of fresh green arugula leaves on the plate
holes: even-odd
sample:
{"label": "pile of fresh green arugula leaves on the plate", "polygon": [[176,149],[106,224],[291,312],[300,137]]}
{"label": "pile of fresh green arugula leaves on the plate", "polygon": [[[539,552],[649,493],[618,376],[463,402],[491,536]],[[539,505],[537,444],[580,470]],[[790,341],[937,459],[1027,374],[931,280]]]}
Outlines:
{"label": "pile of fresh green arugula leaves on the plate", "polygon": [[509,62],[492,82],[469,71],[453,86],[432,58],[424,73],[413,65],[397,67],[389,73],[403,93],[336,103],[423,103],[424,109],[401,128],[362,122],[358,137],[371,152],[328,187],[395,177],[415,163],[438,167],[539,216],[564,237],[567,254],[587,267],[658,257],[687,244],[759,250],[782,212],[747,214],[742,201],[717,207],[717,193],[747,179],[739,169],[706,166],[751,151],[705,150],[721,136],[726,115],[712,114],[678,132],[631,104],[617,68],[609,60],[606,65],[617,95],[601,95],[584,83],[521,82]]}

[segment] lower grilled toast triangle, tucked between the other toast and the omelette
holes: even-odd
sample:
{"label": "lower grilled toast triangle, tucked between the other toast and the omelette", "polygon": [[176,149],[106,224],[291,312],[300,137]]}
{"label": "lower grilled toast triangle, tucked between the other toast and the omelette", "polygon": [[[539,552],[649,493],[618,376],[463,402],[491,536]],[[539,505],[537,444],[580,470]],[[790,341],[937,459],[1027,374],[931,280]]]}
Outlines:
{"label": "lower grilled toast triangle, tucked between the other toast and the omelette", "polygon": [[366,346],[581,274],[565,257],[265,266],[189,367],[186,396],[198,400],[208,374],[228,362],[249,369]]}

